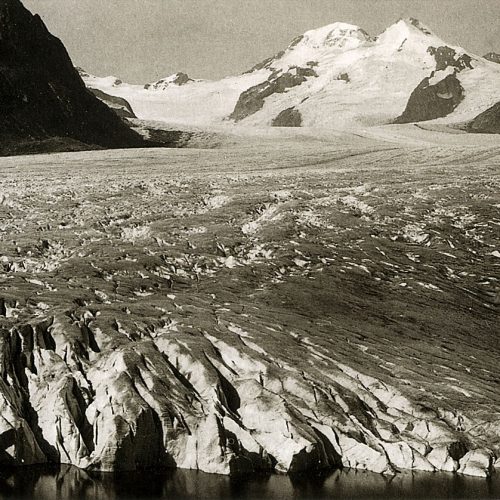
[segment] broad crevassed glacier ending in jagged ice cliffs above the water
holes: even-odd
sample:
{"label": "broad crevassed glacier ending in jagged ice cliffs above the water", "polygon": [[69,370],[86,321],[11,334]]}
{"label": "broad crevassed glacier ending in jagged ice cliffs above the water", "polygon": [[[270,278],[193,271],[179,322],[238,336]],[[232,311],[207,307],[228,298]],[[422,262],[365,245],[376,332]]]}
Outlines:
{"label": "broad crevassed glacier ending in jagged ice cliffs above the water", "polygon": [[495,137],[312,135],[0,159],[5,457],[493,473]]}

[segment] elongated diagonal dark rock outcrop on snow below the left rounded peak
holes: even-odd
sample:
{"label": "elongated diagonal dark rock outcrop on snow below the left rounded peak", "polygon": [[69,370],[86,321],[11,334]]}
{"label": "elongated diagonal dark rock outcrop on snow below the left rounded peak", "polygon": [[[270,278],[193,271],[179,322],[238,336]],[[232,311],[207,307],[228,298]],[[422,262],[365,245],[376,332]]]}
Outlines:
{"label": "elongated diagonal dark rock outcrop on snow below the left rounded peak", "polygon": [[271,75],[265,82],[250,87],[243,92],[231,113],[232,120],[240,121],[257,113],[264,107],[266,98],[273,94],[286,92],[287,89],[297,87],[304,83],[307,78],[317,76],[312,68],[290,68],[286,73],[279,76]]}

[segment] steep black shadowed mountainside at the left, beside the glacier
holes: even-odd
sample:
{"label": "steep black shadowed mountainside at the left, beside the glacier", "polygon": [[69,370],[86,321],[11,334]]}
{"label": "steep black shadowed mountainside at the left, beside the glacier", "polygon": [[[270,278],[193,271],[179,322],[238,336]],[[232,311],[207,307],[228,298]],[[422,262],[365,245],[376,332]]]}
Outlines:
{"label": "steep black shadowed mountainside at the left, beside the glacier", "polygon": [[[19,0],[0,3],[0,142],[42,149],[143,145],[90,93],[62,43]],[[22,148],[21,148],[22,149]]]}

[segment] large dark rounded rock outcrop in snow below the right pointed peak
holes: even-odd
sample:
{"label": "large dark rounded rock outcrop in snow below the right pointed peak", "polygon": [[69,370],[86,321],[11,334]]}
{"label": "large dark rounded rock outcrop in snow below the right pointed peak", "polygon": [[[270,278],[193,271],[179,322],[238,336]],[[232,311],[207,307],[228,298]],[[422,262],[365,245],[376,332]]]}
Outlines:
{"label": "large dark rounded rock outcrop in snow below the right pointed peak", "polygon": [[449,115],[462,101],[464,89],[455,75],[449,75],[436,85],[425,78],[413,91],[404,113],[395,123],[434,120]]}

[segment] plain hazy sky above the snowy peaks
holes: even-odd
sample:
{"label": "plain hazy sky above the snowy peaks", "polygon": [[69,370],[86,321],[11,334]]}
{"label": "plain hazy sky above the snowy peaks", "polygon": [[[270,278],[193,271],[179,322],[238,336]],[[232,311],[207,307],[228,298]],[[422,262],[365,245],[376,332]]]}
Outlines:
{"label": "plain hazy sky above the snowy peaks", "polygon": [[452,45],[500,52],[500,0],[23,0],[73,63],[129,83],[239,74],[336,21],[377,35],[415,17]]}

